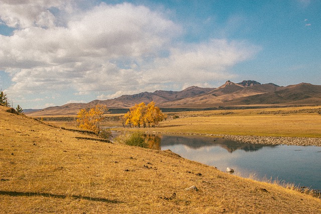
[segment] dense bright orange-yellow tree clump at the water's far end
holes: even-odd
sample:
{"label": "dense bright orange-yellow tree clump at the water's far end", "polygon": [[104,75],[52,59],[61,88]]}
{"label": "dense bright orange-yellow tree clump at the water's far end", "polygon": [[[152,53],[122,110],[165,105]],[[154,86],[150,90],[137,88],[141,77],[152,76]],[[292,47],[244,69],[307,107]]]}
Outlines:
{"label": "dense bright orange-yellow tree clump at the water's far end", "polygon": [[148,127],[155,127],[158,122],[166,119],[166,115],[163,114],[162,110],[155,106],[155,103],[152,101],[148,103],[147,106],[142,102],[130,107],[123,119],[126,125],[129,124],[129,127],[132,125],[138,128],[141,126],[145,128],[147,125]]}

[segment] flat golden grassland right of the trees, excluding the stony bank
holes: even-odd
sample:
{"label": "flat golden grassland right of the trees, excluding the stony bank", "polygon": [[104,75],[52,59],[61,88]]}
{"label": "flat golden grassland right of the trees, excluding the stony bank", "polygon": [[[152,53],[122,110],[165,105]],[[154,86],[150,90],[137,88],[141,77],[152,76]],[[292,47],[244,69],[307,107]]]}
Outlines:
{"label": "flat golden grassland right of the trees, excluding the stony bank", "polygon": [[[319,108],[320,106],[171,113],[170,115],[177,115],[179,118],[169,117],[158,127],[150,130],[172,133],[321,137]],[[312,113],[308,113],[310,109]],[[316,111],[313,112],[313,109]]]}

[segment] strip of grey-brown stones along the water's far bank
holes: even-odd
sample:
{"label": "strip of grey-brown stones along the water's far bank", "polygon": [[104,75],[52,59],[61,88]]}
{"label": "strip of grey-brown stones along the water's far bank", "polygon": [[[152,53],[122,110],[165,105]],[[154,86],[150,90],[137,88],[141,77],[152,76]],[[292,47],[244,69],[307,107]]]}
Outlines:
{"label": "strip of grey-brown stones along the water's far bank", "polygon": [[[155,132],[153,132],[155,133]],[[186,135],[201,135],[222,137],[230,140],[235,140],[241,143],[255,143],[268,145],[297,145],[297,146],[321,146],[321,138],[316,137],[271,137],[271,136],[241,136],[228,134],[197,134],[197,133],[162,133],[161,134],[186,134]]]}

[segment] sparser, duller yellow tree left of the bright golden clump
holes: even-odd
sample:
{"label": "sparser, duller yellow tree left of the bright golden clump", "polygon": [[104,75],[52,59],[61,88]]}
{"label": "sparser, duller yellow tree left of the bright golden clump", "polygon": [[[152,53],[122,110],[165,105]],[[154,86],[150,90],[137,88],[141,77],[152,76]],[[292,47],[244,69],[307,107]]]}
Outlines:
{"label": "sparser, duller yellow tree left of the bright golden clump", "polygon": [[77,115],[78,127],[99,134],[99,122],[103,120],[103,114],[107,111],[107,106],[101,104],[97,104],[96,106],[90,109],[80,109]]}

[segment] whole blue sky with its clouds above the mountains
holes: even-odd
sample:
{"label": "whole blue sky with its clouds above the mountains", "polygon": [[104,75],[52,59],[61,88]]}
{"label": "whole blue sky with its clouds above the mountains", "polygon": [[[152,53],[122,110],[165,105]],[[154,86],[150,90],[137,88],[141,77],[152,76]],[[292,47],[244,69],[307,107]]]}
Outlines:
{"label": "whole blue sky with its clouds above the mountains", "polygon": [[0,0],[0,88],[40,109],[227,80],[321,85],[319,0]]}

